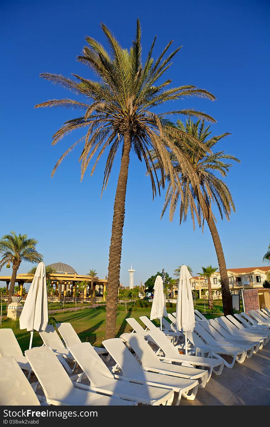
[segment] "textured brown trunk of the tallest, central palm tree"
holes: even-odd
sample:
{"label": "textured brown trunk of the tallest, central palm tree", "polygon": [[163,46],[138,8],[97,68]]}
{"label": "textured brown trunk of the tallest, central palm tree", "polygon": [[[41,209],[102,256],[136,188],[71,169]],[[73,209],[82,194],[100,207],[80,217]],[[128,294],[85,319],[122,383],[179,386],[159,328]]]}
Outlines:
{"label": "textured brown trunk of the tallest, central palm tree", "polygon": [[124,134],[124,149],[116,187],[113,207],[113,224],[110,238],[107,298],[106,298],[106,334],[105,339],[115,338],[116,305],[120,285],[120,264],[122,252],[122,235],[125,219],[125,197],[128,182],[129,154],[131,150],[131,133]]}

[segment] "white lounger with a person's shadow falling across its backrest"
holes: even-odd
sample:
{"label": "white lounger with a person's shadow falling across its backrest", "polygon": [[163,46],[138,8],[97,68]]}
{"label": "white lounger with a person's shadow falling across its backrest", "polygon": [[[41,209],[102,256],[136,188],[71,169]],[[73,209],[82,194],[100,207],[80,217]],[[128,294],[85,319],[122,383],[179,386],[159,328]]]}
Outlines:
{"label": "white lounger with a person's shadow falling across its backrest", "polygon": [[134,383],[173,389],[177,394],[175,404],[179,404],[181,395],[189,400],[195,399],[199,386],[197,380],[169,377],[168,375],[145,371],[120,338],[106,339],[102,344],[116,362],[113,368],[115,377],[120,377],[120,373],[119,376],[116,373],[120,370],[121,374]]}

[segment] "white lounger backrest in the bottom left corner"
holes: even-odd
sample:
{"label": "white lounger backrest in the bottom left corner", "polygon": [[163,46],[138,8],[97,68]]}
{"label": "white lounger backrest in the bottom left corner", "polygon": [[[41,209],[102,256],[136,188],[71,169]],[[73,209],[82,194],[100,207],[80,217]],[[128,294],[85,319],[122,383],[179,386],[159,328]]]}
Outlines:
{"label": "white lounger backrest in the bottom left corner", "polygon": [[0,405],[40,405],[32,386],[14,357],[0,358]]}

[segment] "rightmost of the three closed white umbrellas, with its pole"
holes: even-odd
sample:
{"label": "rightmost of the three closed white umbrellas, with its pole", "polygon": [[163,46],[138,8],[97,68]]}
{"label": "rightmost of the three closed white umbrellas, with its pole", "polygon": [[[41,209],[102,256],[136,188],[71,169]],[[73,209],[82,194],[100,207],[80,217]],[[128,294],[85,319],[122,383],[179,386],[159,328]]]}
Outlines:
{"label": "rightmost of the three closed white umbrellas, with its pole", "polygon": [[195,328],[194,305],[189,281],[191,278],[192,276],[189,273],[187,266],[181,266],[175,317],[177,329],[183,330],[185,335],[186,354],[188,352],[186,332],[188,330],[193,331]]}

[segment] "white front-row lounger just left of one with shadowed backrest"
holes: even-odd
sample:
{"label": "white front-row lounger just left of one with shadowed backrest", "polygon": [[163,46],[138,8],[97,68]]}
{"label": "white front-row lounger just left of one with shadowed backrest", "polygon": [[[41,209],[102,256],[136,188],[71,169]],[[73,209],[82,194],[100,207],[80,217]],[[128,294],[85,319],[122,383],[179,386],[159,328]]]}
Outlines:
{"label": "white front-row lounger just left of one with shadowed backrest", "polygon": [[[125,377],[122,379],[114,378],[90,342],[72,345],[70,351],[83,370],[83,374],[80,375],[77,382],[81,383],[81,380],[87,377],[91,388],[99,393],[137,401],[144,405],[172,404],[173,390],[130,383]],[[81,386],[83,386],[82,383]]]}

